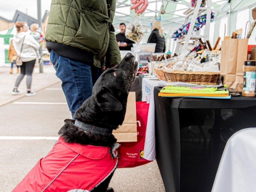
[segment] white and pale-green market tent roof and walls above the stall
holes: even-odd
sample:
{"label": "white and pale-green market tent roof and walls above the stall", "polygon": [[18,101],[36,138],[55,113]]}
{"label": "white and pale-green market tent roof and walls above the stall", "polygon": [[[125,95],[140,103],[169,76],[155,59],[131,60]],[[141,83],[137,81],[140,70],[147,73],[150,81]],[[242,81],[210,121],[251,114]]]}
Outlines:
{"label": "white and pale-green market tent roof and walls above the stall", "polygon": [[[172,40],[171,36],[184,23],[185,15],[183,13],[190,7],[190,1],[191,0],[148,0],[148,8],[141,15],[143,28],[147,31],[141,42],[147,43],[152,22],[154,20],[161,20],[166,41],[166,50],[174,52],[176,41]],[[228,4],[229,2],[230,4]],[[230,15],[228,15],[229,5]],[[214,44],[218,36],[221,37],[221,40],[224,39],[225,24],[226,26],[228,25],[229,16],[230,23],[229,28],[227,26],[226,35],[231,35],[232,31],[242,28],[244,36],[246,22],[253,20],[252,9],[254,7],[256,7],[255,0],[212,0],[212,12],[214,13],[215,18],[210,24],[210,42]],[[130,8],[131,0],[117,0],[114,17],[116,33],[119,32],[120,23],[125,23],[127,25],[134,18],[134,10],[130,10]],[[201,14],[205,14],[205,12],[202,12]],[[191,18],[192,16],[190,16],[188,22],[190,22]],[[249,26],[247,27],[247,32],[248,28]],[[204,35],[204,33],[205,26],[198,31],[198,35]],[[255,35],[256,30],[253,30],[252,36],[249,39],[249,44],[256,44],[254,40]]]}

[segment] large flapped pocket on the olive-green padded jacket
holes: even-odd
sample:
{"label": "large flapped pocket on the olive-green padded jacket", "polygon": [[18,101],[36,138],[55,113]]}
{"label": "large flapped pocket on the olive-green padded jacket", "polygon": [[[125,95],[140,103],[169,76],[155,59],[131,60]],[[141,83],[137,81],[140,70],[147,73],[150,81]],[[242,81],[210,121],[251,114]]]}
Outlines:
{"label": "large flapped pocket on the olive-green padded jacket", "polygon": [[109,22],[111,22],[111,19],[104,14],[82,6],[80,26],[73,41],[99,53],[106,33],[108,33]]}

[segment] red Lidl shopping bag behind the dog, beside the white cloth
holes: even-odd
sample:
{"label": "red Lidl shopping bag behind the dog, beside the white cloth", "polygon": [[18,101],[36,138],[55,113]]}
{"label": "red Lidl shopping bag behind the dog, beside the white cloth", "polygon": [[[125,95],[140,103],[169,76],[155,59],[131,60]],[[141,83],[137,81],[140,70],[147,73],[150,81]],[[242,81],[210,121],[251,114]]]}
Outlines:
{"label": "red Lidl shopping bag behind the dog, beside the white cloth", "polygon": [[136,167],[151,162],[143,158],[148,108],[149,103],[146,101],[136,102],[137,142],[120,143],[117,168]]}

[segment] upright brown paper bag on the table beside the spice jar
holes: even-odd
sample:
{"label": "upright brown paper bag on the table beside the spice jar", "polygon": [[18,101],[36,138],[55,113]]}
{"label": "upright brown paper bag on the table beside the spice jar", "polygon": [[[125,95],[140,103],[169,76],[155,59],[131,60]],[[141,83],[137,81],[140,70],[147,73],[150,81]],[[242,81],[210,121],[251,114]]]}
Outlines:
{"label": "upright brown paper bag on the table beside the spice jar", "polygon": [[248,39],[227,39],[221,42],[220,75],[223,84],[238,92],[243,90],[243,65],[247,60]]}

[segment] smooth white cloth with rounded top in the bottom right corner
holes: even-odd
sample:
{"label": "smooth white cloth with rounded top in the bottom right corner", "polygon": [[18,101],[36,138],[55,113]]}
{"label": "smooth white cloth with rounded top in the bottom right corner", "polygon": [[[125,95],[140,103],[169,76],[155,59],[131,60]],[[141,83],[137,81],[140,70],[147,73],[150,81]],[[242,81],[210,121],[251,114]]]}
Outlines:
{"label": "smooth white cloth with rounded top in the bottom right corner", "polygon": [[256,128],[248,128],[228,140],[212,192],[253,191],[256,191]]}

